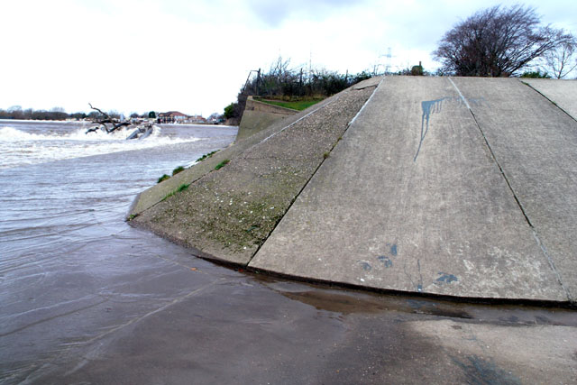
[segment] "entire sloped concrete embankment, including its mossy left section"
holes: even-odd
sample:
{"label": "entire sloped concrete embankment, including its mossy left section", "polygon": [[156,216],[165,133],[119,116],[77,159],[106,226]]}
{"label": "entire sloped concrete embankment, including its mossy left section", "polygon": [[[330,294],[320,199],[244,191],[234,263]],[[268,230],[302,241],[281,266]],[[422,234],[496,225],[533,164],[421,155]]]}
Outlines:
{"label": "entire sloped concrete embankment, including its mossy left section", "polygon": [[219,152],[133,221],[299,278],[574,303],[576,83],[378,81]]}

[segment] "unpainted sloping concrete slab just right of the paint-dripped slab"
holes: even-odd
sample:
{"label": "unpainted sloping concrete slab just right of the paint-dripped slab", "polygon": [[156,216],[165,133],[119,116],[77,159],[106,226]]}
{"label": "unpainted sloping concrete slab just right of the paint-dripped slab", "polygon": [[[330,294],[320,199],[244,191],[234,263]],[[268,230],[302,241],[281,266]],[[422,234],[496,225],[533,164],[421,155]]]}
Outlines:
{"label": "unpainted sloping concrete slab just right of the paint-dripped slab", "polygon": [[[577,298],[577,122],[512,78],[455,78],[570,298]],[[533,83],[537,84],[537,83]],[[563,81],[539,82],[559,103],[577,94]],[[546,86],[545,86],[546,85]],[[572,99],[573,97],[573,99]],[[572,100],[572,101],[571,101]]]}

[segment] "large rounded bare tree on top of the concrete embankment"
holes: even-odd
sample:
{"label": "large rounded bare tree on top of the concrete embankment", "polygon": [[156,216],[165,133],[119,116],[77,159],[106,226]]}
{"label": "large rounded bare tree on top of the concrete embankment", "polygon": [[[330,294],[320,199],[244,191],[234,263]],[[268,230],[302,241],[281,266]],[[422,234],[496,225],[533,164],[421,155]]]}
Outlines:
{"label": "large rounded bare tree on top of the concrete embankment", "polygon": [[500,5],[481,10],[444,34],[435,60],[460,76],[508,77],[545,53],[574,44],[571,34],[540,26],[534,8]]}

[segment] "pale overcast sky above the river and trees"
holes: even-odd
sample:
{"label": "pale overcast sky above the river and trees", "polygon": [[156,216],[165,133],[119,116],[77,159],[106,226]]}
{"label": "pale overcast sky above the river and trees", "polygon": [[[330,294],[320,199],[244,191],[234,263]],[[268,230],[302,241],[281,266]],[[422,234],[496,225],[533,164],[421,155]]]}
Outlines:
{"label": "pale overcast sky above the river and trees", "polygon": [[[279,58],[344,73],[426,70],[444,32],[491,0],[5,0],[0,108],[88,102],[124,114],[222,113],[251,69]],[[526,1],[577,34],[574,0]]]}

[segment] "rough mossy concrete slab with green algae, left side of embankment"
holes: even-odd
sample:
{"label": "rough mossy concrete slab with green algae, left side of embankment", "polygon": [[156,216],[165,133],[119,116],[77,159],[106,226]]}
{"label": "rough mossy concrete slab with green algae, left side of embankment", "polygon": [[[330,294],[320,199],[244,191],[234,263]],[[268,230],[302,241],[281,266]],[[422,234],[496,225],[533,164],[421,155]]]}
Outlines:
{"label": "rough mossy concrete slab with green algae, left side of embankment", "polygon": [[224,168],[182,172],[200,177],[132,223],[203,256],[248,263],[373,90],[349,88],[218,152],[203,163],[214,169],[230,160]]}

